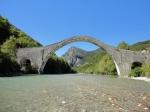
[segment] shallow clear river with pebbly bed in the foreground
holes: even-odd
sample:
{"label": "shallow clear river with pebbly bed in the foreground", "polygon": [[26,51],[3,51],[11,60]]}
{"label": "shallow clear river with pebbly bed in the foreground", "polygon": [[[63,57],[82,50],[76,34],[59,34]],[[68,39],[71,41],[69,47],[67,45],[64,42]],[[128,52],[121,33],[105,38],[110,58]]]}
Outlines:
{"label": "shallow clear river with pebbly bed in the foreground", "polygon": [[0,112],[150,112],[150,82],[87,74],[5,77]]}

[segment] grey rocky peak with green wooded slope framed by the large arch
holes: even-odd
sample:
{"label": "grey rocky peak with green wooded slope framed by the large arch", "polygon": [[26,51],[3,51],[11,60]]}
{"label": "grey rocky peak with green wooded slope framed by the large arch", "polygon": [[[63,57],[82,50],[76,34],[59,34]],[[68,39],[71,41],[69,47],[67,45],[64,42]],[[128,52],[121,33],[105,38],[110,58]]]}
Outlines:
{"label": "grey rocky peak with green wooded slope framed by the large arch", "polygon": [[63,58],[71,63],[73,69],[77,72],[110,75],[116,75],[117,73],[111,57],[100,48],[87,52],[72,47],[63,55]]}

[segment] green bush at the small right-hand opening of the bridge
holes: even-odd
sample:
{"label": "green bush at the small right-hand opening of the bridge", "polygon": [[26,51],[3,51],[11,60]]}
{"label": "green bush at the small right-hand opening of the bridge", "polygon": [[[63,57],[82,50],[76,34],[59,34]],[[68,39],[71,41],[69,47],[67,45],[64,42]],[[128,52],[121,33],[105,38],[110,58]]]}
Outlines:
{"label": "green bush at the small right-hand opening of the bridge", "polygon": [[131,70],[131,72],[129,73],[129,77],[140,77],[142,76],[142,69],[141,67],[136,67],[134,69]]}

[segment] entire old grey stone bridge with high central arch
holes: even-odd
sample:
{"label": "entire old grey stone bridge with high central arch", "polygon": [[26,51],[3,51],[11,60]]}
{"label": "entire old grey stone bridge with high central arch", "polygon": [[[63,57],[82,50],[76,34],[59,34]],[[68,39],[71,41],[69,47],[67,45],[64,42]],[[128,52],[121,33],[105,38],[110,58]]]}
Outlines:
{"label": "entire old grey stone bridge with high central arch", "polygon": [[74,36],[44,47],[17,49],[17,62],[20,64],[22,59],[28,59],[31,61],[31,65],[37,66],[39,73],[43,73],[44,67],[52,53],[69,43],[77,41],[89,42],[104,49],[112,57],[118,75],[123,77],[128,76],[134,62],[145,63],[150,58],[148,53],[117,49],[89,36]]}

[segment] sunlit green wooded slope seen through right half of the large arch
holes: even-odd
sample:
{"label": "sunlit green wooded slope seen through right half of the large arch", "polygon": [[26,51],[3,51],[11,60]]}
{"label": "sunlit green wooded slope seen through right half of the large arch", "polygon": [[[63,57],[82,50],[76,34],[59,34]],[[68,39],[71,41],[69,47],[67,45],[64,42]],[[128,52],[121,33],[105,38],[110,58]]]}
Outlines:
{"label": "sunlit green wooded slope seen through right half of the large arch", "polygon": [[81,73],[117,75],[115,64],[105,51],[91,54],[85,60],[84,64],[74,69]]}

